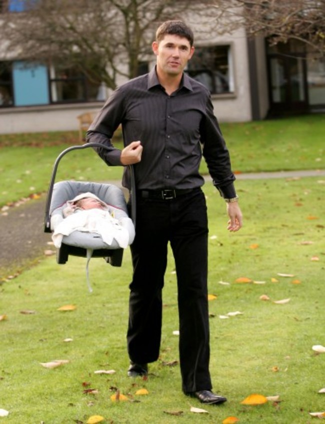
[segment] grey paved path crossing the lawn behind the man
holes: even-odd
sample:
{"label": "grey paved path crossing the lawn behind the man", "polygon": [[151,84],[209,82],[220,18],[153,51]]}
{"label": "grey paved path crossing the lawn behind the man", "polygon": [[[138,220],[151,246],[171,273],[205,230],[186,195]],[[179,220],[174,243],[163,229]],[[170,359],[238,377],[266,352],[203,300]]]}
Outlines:
{"label": "grey paved path crossing the lawn behind the man", "polygon": [[[237,180],[265,178],[325,177],[325,170],[262,172],[238,174]],[[206,180],[210,180],[209,177]],[[120,186],[120,182],[112,182]],[[20,272],[26,266],[36,263],[46,250],[55,250],[48,243],[50,234],[44,233],[43,219],[45,195],[39,200],[29,200],[20,206],[0,213],[0,283],[8,275]]]}

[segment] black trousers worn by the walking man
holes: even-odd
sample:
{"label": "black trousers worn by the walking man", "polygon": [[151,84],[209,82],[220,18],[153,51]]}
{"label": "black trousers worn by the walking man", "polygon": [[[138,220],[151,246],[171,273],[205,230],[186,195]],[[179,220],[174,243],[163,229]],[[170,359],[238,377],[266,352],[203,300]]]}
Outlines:
{"label": "black trousers worn by the walking man", "polygon": [[185,393],[210,390],[207,306],[207,213],[201,189],[172,200],[136,201],[131,245],[127,347],[131,361],[158,359],[167,244],[173,252],[178,294],[179,363]]}

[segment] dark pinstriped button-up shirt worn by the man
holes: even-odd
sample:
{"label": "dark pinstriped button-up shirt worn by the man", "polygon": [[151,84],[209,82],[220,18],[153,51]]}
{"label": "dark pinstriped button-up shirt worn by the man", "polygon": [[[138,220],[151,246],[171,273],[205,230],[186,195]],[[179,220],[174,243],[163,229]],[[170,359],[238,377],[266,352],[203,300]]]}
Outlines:
{"label": "dark pinstriped button-up shirt worn by the man", "polygon": [[[142,157],[134,165],[139,190],[188,189],[203,185],[198,169],[202,155],[213,184],[225,198],[235,197],[229,153],[221,135],[209,91],[183,74],[180,87],[168,95],[155,69],[116,88],[87,131],[87,141],[108,165],[121,165],[111,137],[122,125],[124,145],[140,140]],[[125,168],[127,171],[127,168]],[[129,188],[124,174],[123,185]]]}

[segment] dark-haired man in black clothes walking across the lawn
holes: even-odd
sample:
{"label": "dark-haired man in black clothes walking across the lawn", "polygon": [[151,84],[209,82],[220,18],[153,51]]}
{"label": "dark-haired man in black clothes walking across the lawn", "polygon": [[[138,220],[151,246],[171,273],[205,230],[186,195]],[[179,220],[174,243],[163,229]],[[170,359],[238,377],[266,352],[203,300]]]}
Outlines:
{"label": "dark-haired man in black clothes walking across the lawn", "polygon": [[[170,243],[176,267],[179,363],[182,390],[206,404],[220,404],[209,374],[207,213],[198,169],[205,158],[214,186],[226,201],[228,230],[242,226],[229,153],[208,90],[184,73],[194,53],[193,33],[182,21],[162,23],[152,50],[156,66],[118,87],[87,132],[108,165],[133,164],[136,235],[131,245],[127,348],[128,375],[146,375],[158,359],[162,288]],[[122,125],[124,148],[111,144]],[[130,188],[127,167],[123,185]],[[134,207],[134,205],[131,205]]]}

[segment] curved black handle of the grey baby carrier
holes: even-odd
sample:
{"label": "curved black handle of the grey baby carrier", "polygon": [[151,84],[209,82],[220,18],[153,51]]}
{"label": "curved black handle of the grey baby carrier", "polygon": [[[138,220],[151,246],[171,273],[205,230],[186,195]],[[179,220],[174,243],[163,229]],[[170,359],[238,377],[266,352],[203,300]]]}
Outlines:
{"label": "curved black handle of the grey baby carrier", "polygon": [[[47,191],[47,198],[46,198],[46,204],[45,204],[45,218],[44,218],[44,232],[45,233],[50,233],[50,217],[49,217],[49,208],[50,208],[50,204],[51,204],[51,199],[52,199],[52,192],[53,192],[53,187],[54,187],[54,182],[55,182],[55,176],[56,176],[56,171],[57,171],[57,167],[58,167],[58,163],[59,161],[62,159],[62,157],[68,153],[71,150],[78,150],[78,149],[85,149],[87,147],[100,147],[103,148],[105,150],[110,150],[110,147],[107,147],[101,143],[86,143],[86,144],[82,144],[80,146],[71,146],[66,148],[65,150],[63,150],[56,158],[55,162],[54,162],[54,166],[53,166],[53,171],[52,171],[52,176],[51,176],[51,180],[49,183],[49,187],[48,187],[48,191]],[[135,226],[135,217],[136,217],[136,213],[135,213],[135,177],[134,177],[134,168],[133,165],[127,165],[127,167],[129,168],[130,171],[130,175],[131,175],[131,190],[130,190],[130,198],[131,198],[131,219],[133,221],[133,224]]]}

